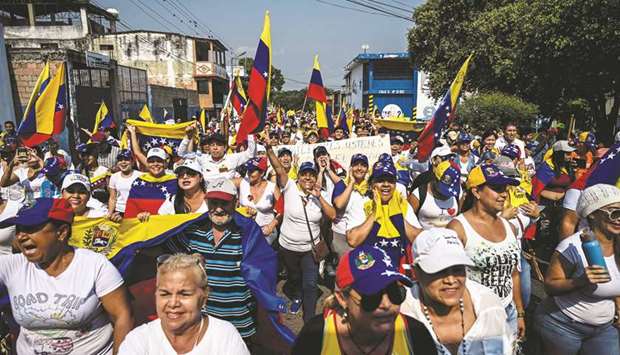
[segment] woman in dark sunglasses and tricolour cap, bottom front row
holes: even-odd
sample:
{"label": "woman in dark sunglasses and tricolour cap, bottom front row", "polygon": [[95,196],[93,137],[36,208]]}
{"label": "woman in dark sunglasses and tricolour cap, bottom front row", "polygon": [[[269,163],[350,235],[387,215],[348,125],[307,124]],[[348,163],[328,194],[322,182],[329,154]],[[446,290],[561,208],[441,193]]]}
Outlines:
{"label": "woman in dark sunglasses and tricolour cap, bottom front row", "polygon": [[436,354],[422,323],[399,313],[411,280],[377,247],[347,252],[326,310],[302,328],[292,354]]}

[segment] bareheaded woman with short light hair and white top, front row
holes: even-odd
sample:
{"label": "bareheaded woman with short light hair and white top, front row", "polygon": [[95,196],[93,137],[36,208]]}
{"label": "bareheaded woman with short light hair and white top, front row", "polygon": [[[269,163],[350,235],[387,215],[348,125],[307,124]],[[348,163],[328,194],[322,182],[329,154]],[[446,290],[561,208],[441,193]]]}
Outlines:
{"label": "bareheaded woman with short light hair and white top, front row", "polygon": [[207,274],[196,255],[157,258],[157,318],[132,330],[119,354],[249,354],[235,327],[201,313],[209,294]]}

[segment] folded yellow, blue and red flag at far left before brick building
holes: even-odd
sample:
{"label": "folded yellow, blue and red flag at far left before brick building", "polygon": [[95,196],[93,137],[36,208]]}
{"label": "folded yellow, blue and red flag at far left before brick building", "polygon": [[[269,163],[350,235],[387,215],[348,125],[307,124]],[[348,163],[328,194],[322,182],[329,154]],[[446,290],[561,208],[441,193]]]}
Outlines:
{"label": "folded yellow, blue and red flag at far left before brick building", "polygon": [[65,63],[50,79],[49,63],[41,71],[24,112],[17,135],[24,145],[34,147],[65,129],[67,88]]}

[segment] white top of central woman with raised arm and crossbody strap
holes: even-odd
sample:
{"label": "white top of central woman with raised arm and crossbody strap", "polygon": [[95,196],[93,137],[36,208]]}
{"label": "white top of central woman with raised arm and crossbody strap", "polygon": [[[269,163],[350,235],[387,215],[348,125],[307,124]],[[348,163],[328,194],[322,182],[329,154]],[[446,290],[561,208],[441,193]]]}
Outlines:
{"label": "white top of central woman with raised arm and crossbody strap", "polygon": [[310,245],[310,232],[308,232],[302,198],[308,201],[306,212],[315,243],[319,242],[319,234],[321,232],[320,222],[323,216],[321,203],[313,195],[306,197],[299,190],[297,183],[293,179],[288,179],[286,186],[282,189],[282,194],[284,196],[285,208],[282,228],[280,228],[280,245],[292,251],[310,251],[312,249]]}

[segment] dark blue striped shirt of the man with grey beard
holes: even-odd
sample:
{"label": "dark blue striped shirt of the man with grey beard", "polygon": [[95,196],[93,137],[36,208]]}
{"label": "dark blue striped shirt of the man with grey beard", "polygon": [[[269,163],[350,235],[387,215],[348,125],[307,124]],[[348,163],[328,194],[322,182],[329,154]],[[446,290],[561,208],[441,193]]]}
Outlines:
{"label": "dark blue striped shirt of the man with grey beard", "polygon": [[[205,258],[209,298],[206,313],[231,322],[243,338],[256,333],[255,302],[241,275],[242,236],[235,229],[226,230],[216,245],[210,223],[192,224],[170,240],[174,251],[200,253]],[[203,312],[205,310],[203,309]]]}

